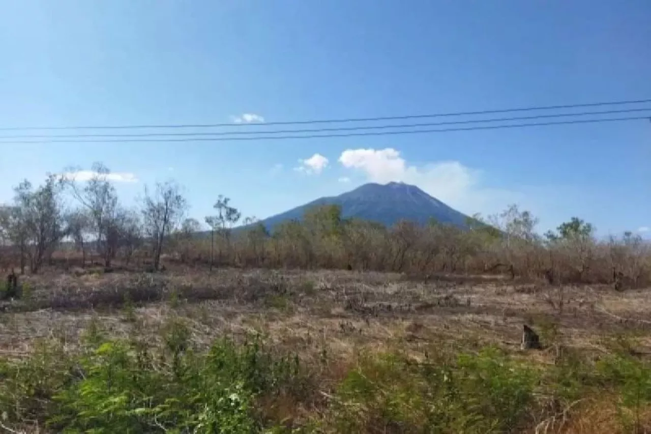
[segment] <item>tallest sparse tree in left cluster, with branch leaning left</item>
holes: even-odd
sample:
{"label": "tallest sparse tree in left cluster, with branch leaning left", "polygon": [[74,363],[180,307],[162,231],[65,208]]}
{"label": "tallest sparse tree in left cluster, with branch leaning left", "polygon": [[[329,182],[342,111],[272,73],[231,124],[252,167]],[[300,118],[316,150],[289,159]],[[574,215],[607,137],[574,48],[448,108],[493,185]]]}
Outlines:
{"label": "tallest sparse tree in left cluster, with branch leaning left", "polygon": [[115,219],[118,211],[117,193],[108,181],[111,171],[102,163],[94,163],[93,175],[83,187],[77,184],[74,173],[76,171],[68,171],[64,181],[68,183],[76,199],[89,210],[98,253],[104,257],[105,267],[111,267],[115,249],[111,248],[109,241],[115,240]]}

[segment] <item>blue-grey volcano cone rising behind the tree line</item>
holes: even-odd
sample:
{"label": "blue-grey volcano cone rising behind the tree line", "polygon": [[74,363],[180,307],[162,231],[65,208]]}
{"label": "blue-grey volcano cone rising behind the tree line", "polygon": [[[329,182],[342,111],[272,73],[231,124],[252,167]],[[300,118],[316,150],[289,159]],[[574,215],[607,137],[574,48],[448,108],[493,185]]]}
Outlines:
{"label": "blue-grey volcano cone rising behind the tree line", "polygon": [[286,220],[303,218],[303,213],[318,205],[340,205],[342,217],[372,220],[390,226],[398,220],[426,224],[430,218],[438,222],[466,227],[467,216],[426,194],[420,188],[402,182],[364,184],[355,190],[333,197],[321,197],[300,207],[262,220],[267,229]]}

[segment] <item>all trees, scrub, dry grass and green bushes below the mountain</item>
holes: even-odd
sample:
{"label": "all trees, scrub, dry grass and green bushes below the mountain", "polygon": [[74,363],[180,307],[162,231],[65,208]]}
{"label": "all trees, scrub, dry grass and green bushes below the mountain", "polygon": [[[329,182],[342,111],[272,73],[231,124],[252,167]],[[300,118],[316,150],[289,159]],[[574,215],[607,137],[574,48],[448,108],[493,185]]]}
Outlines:
{"label": "all trees, scrub, dry grass and green bushes below the mountain", "polygon": [[48,182],[0,210],[1,266],[25,272],[0,288],[8,432],[651,430],[651,255],[631,233],[540,237],[516,207],[467,231],[337,207],[230,231],[219,197],[206,237],[174,184],[130,211],[100,178]]}

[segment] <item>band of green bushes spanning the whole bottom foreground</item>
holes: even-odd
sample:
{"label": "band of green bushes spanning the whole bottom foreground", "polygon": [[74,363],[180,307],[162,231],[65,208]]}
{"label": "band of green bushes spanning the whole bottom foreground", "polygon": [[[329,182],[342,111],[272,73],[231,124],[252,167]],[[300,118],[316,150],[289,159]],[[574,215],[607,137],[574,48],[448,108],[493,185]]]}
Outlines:
{"label": "band of green bushes spanning the whole bottom foreground", "polygon": [[[222,338],[196,353],[178,317],[161,338],[158,346],[107,340],[94,318],[76,354],[41,341],[28,358],[0,360],[3,423],[33,420],[63,433],[515,433],[607,392],[624,432],[641,432],[651,404],[651,366],[626,353],[595,364],[567,352],[555,366],[534,368],[494,347],[439,348],[424,360],[361,354],[320,411],[294,427],[264,403],[318,402],[298,356],[278,354],[258,336]],[[324,354],[323,364],[332,361]]]}

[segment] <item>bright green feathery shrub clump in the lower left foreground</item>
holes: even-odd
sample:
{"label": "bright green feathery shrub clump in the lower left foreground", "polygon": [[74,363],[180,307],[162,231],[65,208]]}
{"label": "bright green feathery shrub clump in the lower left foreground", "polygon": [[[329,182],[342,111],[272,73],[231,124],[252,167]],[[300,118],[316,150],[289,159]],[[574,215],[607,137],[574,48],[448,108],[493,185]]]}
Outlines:
{"label": "bright green feathery shrub clump in the lower left foreground", "polygon": [[46,421],[66,433],[244,434],[273,426],[256,399],[305,390],[298,358],[276,356],[258,338],[218,340],[197,355],[187,326],[173,319],[163,340],[155,357],[143,343],[105,341],[93,321],[75,357],[50,345],[1,362],[0,412],[8,422]]}

